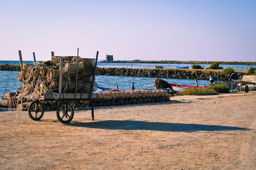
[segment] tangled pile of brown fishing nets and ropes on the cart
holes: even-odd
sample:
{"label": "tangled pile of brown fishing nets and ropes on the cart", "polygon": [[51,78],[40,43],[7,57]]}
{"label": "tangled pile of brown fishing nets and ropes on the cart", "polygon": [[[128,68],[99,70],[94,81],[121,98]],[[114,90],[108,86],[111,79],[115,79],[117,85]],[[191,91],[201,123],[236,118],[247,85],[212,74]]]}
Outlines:
{"label": "tangled pile of brown fishing nets and ropes on the cart", "polygon": [[[42,97],[44,93],[54,93],[58,98],[60,59],[60,56],[53,56],[51,61],[37,62],[35,65],[22,63],[18,81],[23,82],[23,86],[20,86],[17,95],[15,95],[18,103],[21,102],[22,105],[23,102],[36,100]],[[75,93],[76,72],[78,71],[77,93],[90,93],[95,59],[80,57],[77,59],[73,56],[65,56],[62,59],[61,92]],[[99,75],[98,67],[95,75]],[[26,110],[26,108],[22,109]]]}

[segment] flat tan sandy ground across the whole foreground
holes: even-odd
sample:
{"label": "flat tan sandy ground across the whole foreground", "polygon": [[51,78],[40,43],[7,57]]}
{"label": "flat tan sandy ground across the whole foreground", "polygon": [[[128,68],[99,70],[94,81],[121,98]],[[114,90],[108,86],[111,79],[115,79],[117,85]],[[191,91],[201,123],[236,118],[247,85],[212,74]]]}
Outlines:
{"label": "flat tan sandy ground across the whole foreground", "polygon": [[0,112],[0,169],[255,169],[256,93],[56,112]]}

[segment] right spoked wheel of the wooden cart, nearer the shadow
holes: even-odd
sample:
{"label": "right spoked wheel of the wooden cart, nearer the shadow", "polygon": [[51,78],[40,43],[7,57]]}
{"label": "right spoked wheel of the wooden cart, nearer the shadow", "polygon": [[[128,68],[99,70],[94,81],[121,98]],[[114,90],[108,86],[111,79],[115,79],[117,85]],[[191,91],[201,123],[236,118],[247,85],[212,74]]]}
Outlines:
{"label": "right spoked wheel of the wooden cart, nearer the shadow", "polygon": [[72,105],[66,102],[60,104],[57,109],[57,118],[61,123],[69,123],[74,117],[74,109]]}

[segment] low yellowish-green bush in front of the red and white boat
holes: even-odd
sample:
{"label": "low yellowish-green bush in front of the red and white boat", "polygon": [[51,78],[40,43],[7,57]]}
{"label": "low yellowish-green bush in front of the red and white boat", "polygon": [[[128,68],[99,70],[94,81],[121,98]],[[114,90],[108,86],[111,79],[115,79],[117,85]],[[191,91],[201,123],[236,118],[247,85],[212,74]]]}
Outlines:
{"label": "low yellowish-green bush in front of the red and white boat", "polygon": [[186,89],[181,93],[182,95],[216,95],[216,90],[210,88],[191,88]]}

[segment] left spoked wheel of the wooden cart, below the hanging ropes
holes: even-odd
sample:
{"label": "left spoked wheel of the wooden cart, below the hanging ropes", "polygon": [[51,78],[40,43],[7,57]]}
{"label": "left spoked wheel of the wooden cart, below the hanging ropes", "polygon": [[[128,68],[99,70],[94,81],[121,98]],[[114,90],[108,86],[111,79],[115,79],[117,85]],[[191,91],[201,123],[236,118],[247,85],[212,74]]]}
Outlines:
{"label": "left spoked wheel of the wooden cart, below the hanging ropes", "polygon": [[32,120],[40,120],[44,116],[44,105],[35,100],[29,105],[28,114]]}

